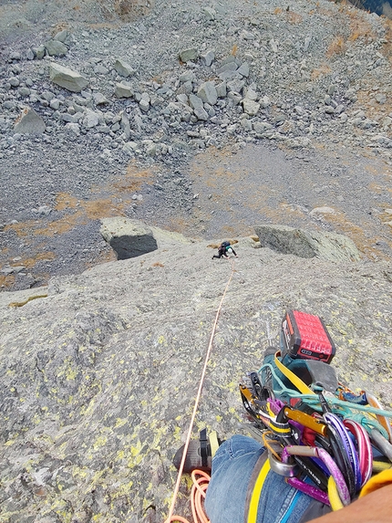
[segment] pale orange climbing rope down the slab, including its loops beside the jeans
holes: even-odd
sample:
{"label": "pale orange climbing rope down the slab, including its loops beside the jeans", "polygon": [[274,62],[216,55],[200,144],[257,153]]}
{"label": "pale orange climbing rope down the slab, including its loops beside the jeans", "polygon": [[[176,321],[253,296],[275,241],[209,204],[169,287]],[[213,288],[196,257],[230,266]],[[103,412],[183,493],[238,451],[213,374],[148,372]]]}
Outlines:
{"label": "pale orange climbing rope down the slab, including its loops beside the jeans", "polygon": [[[181,465],[179,467],[177,481],[176,481],[176,485],[174,487],[174,493],[173,493],[173,497],[172,497],[172,500],[171,500],[169,516],[166,519],[165,523],[170,523],[171,521],[181,521],[181,522],[184,522],[184,523],[188,523],[187,519],[182,518],[181,516],[173,516],[173,511],[174,511],[174,506],[175,506],[175,503],[176,503],[176,500],[177,500],[177,496],[178,496],[178,493],[179,493],[179,490],[180,490],[182,471],[184,469],[185,458],[186,458],[188,447],[189,447],[190,441],[191,441],[191,433],[192,433],[192,429],[193,429],[193,424],[194,424],[194,421],[195,421],[195,418],[196,418],[196,413],[198,411],[198,407],[199,407],[199,403],[200,403],[200,399],[201,399],[201,390],[202,390],[202,386],[203,386],[203,383],[204,383],[205,374],[206,374],[206,371],[207,371],[207,364],[208,364],[208,362],[210,360],[210,355],[211,355],[211,350],[212,350],[212,342],[213,342],[213,339],[214,339],[214,336],[215,336],[215,331],[216,331],[216,327],[217,327],[217,324],[218,324],[218,319],[219,319],[219,316],[221,314],[222,304],[223,304],[224,298],[226,297],[226,293],[227,293],[227,290],[228,290],[228,288],[230,286],[230,283],[232,281],[232,276],[233,276],[234,272],[235,272],[234,271],[234,262],[232,261],[232,272],[230,273],[230,277],[227,280],[226,287],[224,288],[223,295],[222,295],[222,298],[221,298],[221,302],[220,302],[219,307],[218,307],[218,309],[216,311],[215,320],[214,320],[214,323],[213,323],[213,326],[212,326],[212,329],[211,329],[210,342],[209,342],[208,349],[207,349],[207,352],[206,352],[206,355],[205,355],[204,366],[203,366],[203,369],[201,371],[201,380],[200,380],[200,383],[199,383],[199,389],[198,389],[198,392],[197,392],[197,395],[196,395],[196,400],[195,400],[194,407],[193,407],[193,412],[192,412],[192,415],[191,415],[191,422],[190,422],[190,426],[189,426],[189,429],[188,429],[188,434],[187,434],[187,438],[186,438],[186,441],[185,441],[184,450],[183,450],[183,453],[182,453]],[[194,479],[193,479],[193,476],[194,476]],[[199,476],[199,479],[197,479],[197,476]],[[206,518],[206,516],[204,514],[204,510],[202,509],[201,498],[205,497],[205,490],[207,489],[207,485],[208,485],[208,481],[210,479],[210,476],[206,475],[206,473],[202,472],[201,470],[195,470],[194,474],[192,473],[192,479],[193,479],[193,486],[192,486],[192,492],[191,492],[191,507],[192,507],[192,515],[193,515],[194,523],[199,523],[199,521],[201,521],[201,523],[208,523],[208,519]],[[194,487],[195,490],[193,489],[193,487]]]}

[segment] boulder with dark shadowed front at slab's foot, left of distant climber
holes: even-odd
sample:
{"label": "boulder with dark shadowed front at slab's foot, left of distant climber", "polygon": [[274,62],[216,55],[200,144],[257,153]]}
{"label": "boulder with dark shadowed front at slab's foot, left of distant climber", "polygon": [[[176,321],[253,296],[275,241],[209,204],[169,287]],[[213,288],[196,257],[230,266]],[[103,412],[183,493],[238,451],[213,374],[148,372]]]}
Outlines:
{"label": "boulder with dark shadowed front at slab's foot, left of distant climber", "polygon": [[104,218],[101,235],[116,251],[119,260],[145,255],[158,248],[150,227],[128,218]]}

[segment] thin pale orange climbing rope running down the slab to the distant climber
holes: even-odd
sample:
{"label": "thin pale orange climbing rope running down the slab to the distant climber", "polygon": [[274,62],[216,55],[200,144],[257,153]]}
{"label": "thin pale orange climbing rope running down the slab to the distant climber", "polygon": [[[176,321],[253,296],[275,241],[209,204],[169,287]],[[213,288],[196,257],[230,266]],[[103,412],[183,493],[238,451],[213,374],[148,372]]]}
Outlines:
{"label": "thin pale orange climbing rope running down the slab to the distant climber", "polygon": [[[211,350],[212,350],[212,341],[214,339],[216,327],[218,325],[218,319],[219,319],[219,316],[221,314],[223,300],[224,300],[224,298],[226,296],[227,290],[228,290],[228,288],[230,286],[230,283],[232,281],[232,276],[233,276],[234,272],[235,272],[235,270],[234,270],[234,261],[232,260],[232,272],[231,272],[230,277],[229,277],[229,279],[228,279],[228,281],[226,283],[226,287],[224,288],[222,299],[221,299],[219,307],[218,307],[218,309],[216,311],[215,321],[214,321],[212,329],[211,329],[210,343],[208,345],[208,349],[207,349],[207,352],[206,352],[206,355],[205,355],[204,366],[203,366],[203,369],[201,371],[201,380],[200,380],[200,383],[199,383],[199,389],[198,389],[198,392],[197,392],[197,395],[196,395],[195,404],[194,404],[194,407],[193,407],[193,413],[191,415],[191,422],[190,422],[190,426],[189,426],[189,429],[188,429],[187,439],[186,439],[185,445],[184,445],[184,451],[182,453],[181,464],[180,464],[180,468],[179,468],[179,472],[178,472],[178,476],[177,476],[176,485],[174,487],[173,497],[172,497],[172,500],[171,500],[169,516],[166,519],[165,523],[170,523],[172,521],[181,521],[183,523],[188,523],[187,519],[182,518],[181,516],[173,516],[173,511],[174,511],[174,506],[176,504],[177,496],[178,496],[179,490],[180,490],[182,471],[184,469],[185,458],[186,458],[186,455],[187,455],[187,452],[188,452],[188,447],[189,447],[190,442],[191,442],[191,434],[192,434],[193,424],[194,424],[194,421],[195,421],[195,418],[196,418],[196,413],[198,411],[198,407],[199,407],[199,403],[200,403],[200,399],[201,399],[201,390],[202,390],[202,386],[203,386],[203,383],[204,383],[205,374],[206,374],[206,371],[207,371],[207,364],[208,364],[208,362],[210,360],[210,355],[211,355]],[[200,475],[202,475],[201,477],[204,477],[205,473],[203,473],[201,471],[195,471],[195,472],[199,473]],[[195,485],[195,484],[193,484],[193,485]],[[201,492],[200,492],[199,488],[198,487],[195,487],[195,488],[197,489],[197,492],[199,493],[198,496],[201,496]],[[206,489],[207,489],[207,485],[205,485],[204,491]],[[205,497],[205,494],[204,494],[204,497]],[[200,505],[199,505],[199,501],[200,501]],[[196,501],[195,501],[195,503],[196,503]],[[201,504],[201,498],[200,497],[198,497],[198,502],[195,505],[195,507],[196,506],[198,506],[198,507],[200,506],[201,509],[202,509],[202,504]],[[192,512],[193,512],[193,509],[192,509]],[[195,514],[193,514],[193,518],[195,518]],[[204,516],[204,511],[202,511],[201,522],[202,523],[207,523],[208,522],[208,519],[206,519],[205,516]],[[195,523],[198,523],[198,519],[195,519]]]}

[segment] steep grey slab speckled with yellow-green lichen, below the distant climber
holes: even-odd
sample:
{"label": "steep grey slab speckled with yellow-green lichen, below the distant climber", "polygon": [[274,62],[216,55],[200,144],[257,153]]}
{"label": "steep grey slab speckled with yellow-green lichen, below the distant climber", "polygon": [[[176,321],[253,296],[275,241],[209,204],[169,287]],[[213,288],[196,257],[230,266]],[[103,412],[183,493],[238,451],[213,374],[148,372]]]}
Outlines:
{"label": "steep grey slab speckled with yellow-green lichen, below the distant climber", "polygon": [[[250,238],[236,244],[195,434],[204,426],[222,438],[243,431],[238,383],[260,368],[267,338],[278,343],[288,307],[320,315],[337,346],[339,379],[388,406],[392,265],[255,246]],[[173,243],[56,277],[42,292],[2,293],[2,520],[165,520],[177,477],[171,460],[232,271],[211,252],[206,242]],[[187,499],[176,513],[189,515]]]}

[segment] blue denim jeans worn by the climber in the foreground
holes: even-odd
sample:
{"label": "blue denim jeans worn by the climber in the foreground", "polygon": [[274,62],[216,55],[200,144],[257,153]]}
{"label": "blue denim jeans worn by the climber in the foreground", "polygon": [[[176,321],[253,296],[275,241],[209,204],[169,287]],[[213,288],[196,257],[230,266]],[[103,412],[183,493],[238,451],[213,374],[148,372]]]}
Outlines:
{"label": "blue denim jeans worn by the climber in the foreground", "polygon": [[[211,481],[205,509],[211,523],[244,523],[245,499],[253,467],[264,448],[252,438],[234,435],[212,459]],[[329,509],[289,486],[283,476],[270,471],[265,478],[257,511],[257,523],[304,523]],[[309,507],[312,505],[312,507]],[[310,519],[304,518],[311,512]]]}

